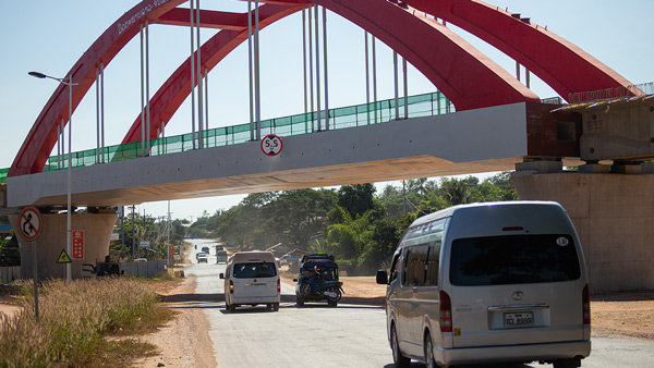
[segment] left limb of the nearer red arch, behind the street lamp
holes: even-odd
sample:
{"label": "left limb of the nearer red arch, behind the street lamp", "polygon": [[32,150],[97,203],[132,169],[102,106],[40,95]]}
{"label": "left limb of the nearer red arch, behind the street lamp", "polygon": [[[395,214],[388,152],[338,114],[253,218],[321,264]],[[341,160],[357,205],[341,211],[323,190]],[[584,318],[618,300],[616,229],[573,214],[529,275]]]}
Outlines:
{"label": "left limb of the nearer red arch, behind the street lamp", "polygon": [[[72,75],[73,111],[95,83],[96,68],[104,63],[107,66],[113,57],[140,32],[140,25],[146,20],[154,21],[186,0],[144,0],[116,21],[88,48],[66,74]],[[155,3],[158,3],[156,5]],[[68,87],[59,85],[27,134],[23,146],[16,154],[9,169],[8,176],[25,175],[41,172],[57,143],[57,125],[63,119],[68,124],[69,93]]]}

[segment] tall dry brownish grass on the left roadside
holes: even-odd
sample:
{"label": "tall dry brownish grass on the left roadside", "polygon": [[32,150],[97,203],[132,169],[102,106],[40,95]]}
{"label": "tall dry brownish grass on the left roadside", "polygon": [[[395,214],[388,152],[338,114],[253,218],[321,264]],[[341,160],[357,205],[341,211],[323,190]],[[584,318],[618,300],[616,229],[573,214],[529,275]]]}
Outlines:
{"label": "tall dry brownish grass on the left roadside", "polygon": [[155,346],[132,335],[172,318],[149,282],[132,278],[45,281],[39,320],[33,283],[16,284],[21,310],[0,314],[0,367],[125,367]]}

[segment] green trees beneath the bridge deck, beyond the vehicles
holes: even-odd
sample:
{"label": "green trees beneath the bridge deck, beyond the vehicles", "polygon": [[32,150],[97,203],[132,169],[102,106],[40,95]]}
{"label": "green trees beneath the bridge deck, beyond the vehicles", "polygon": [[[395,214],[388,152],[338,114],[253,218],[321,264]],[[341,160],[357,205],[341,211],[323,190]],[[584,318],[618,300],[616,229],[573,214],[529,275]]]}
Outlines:
{"label": "green trees beneath the bridge deck, beyond the vehicles", "polygon": [[311,253],[329,253],[348,275],[373,274],[388,262],[416,218],[455,205],[516,200],[510,173],[482,182],[475,176],[408,180],[376,194],[373,184],[337,189],[251,194],[228,210],[194,222],[190,237],[220,237],[235,249],[266,249],[278,243]]}

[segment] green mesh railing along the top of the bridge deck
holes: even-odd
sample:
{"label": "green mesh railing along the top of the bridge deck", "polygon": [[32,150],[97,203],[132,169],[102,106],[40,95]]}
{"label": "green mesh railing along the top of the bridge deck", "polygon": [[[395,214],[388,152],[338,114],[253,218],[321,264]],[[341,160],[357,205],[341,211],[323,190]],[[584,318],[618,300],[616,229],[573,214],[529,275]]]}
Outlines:
{"label": "green mesh railing along the top of the bridge deck", "polygon": [[[398,100],[399,113],[403,118],[404,99]],[[411,96],[408,98],[409,118],[431,116],[455,112],[455,106],[439,91]],[[317,112],[277,118],[262,121],[262,136],[276,134],[292,136],[310,134],[318,131]],[[346,108],[329,110],[329,130],[341,130],[370,124],[385,123],[395,120],[395,99],[372,103],[356,105]],[[325,131],[325,111],[320,111],[320,130]],[[197,133],[195,133],[197,137]],[[250,124],[217,127],[202,133],[205,148],[237,145],[250,142]],[[197,145],[197,139],[195,142]],[[149,155],[160,156],[183,152],[195,149],[193,134],[182,134],[150,140]],[[123,161],[142,157],[141,142],[105,147],[105,152],[96,148],[73,152],[71,164],[73,168],[89,167],[101,162]],[[68,168],[68,155],[51,156],[48,158],[45,171]],[[0,183],[7,183],[9,169],[0,169]]]}

